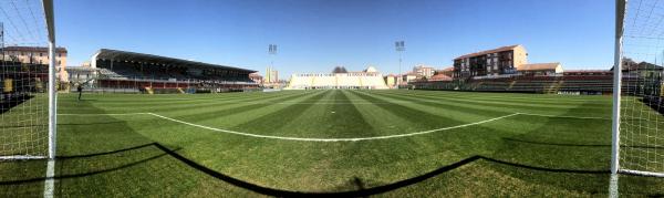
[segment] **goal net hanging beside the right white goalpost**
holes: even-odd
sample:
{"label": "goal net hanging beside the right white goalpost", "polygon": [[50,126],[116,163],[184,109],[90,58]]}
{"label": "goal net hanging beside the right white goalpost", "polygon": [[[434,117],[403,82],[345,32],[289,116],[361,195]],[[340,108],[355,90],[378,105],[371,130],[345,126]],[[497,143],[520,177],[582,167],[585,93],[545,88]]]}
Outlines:
{"label": "goal net hanging beside the right white goalpost", "polygon": [[622,22],[622,45],[616,44],[621,70],[613,71],[622,75],[616,168],[664,177],[664,1],[629,0],[623,10],[619,3],[618,19],[623,20],[616,21]]}

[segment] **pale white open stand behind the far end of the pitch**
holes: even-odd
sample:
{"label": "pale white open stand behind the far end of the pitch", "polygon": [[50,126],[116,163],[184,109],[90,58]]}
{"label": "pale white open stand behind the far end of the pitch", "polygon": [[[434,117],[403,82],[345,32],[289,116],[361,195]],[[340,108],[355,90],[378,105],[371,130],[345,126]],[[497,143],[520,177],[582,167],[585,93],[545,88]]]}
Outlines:
{"label": "pale white open stand behind the far end of the pitch", "polygon": [[388,88],[375,67],[369,66],[362,72],[347,72],[335,67],[332,73],[292,74],[284,90],[386,90]]}

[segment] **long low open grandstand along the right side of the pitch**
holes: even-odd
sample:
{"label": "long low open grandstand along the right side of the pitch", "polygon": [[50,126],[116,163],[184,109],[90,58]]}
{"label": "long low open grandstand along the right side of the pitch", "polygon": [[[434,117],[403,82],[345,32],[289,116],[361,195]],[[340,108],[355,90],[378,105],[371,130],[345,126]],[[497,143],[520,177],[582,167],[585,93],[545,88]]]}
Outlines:
{"label": "long low open grandstand along the right side of the pitch", "polygon": [[[454,79],[454,81],[417,81],[411,83],[418,90],[457,90],[480,92],[519,92],[546,94],[611,94],[613,92],[613,69],[562,71],[559,63],[525,64],[528,71],[504,77]],[[623,60],[623,82],[645,82],[657,77],[664,67],[649,62]],[[661,85],[623,86],[623,93],[647,92],[661,95]]]}

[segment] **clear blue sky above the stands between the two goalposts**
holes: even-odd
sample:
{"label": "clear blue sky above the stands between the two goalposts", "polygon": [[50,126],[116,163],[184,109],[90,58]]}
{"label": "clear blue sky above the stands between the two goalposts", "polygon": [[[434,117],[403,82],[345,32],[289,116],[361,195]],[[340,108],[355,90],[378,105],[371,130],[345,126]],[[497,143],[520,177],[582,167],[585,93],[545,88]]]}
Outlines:
{"label": "clear blue sky above the stands between the two goalposts", "polygon": [[[609,69],[614,3],[606,0],[56,0],[58,44],[70,65],[101,48],[247,67],[281,76],[438,69],[491,48],[523,44],[529,62]],[[278,54],[268,54],[268,44]]]}

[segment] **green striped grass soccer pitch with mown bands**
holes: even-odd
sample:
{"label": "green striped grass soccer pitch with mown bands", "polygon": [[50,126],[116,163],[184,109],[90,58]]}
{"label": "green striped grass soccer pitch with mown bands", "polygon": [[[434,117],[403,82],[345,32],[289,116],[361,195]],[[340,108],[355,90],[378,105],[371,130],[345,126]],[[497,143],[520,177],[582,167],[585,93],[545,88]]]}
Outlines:
{"label": "green striped grass soccer pitch with mown bands", "polygon": [[[606,196],[611,97],[434,91],[59,96],[68,197]],[[0,163],[41,196],[44,160]],[[620,192],[664,180],[620,176]],[[318,195],[321,196],[321,195]]]}

